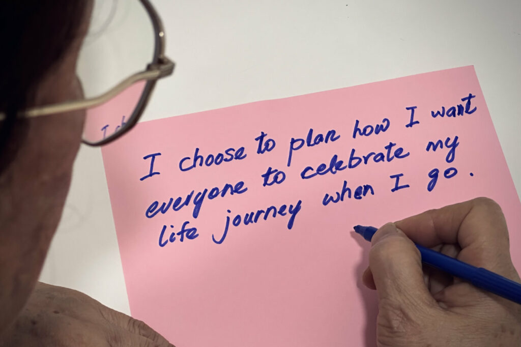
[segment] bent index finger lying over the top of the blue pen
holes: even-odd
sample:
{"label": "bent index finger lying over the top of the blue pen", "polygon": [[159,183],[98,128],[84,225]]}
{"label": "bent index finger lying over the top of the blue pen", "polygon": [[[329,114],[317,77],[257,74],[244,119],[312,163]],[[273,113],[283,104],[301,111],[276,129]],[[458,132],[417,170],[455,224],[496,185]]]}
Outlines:
{"label": "bent index finger lying over the top of the blue pen", "polygon": [[518,279],[510,258],[508,229],[501,207],[486,197],[428,210],[397,221],[411,240],[426,247],[459,244],[457,258]]}

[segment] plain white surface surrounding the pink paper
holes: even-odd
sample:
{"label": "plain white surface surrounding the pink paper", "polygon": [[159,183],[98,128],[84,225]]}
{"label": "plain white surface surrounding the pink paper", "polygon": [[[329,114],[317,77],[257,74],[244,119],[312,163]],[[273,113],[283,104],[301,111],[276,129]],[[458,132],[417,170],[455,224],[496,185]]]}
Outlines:
{"label": "plain white surface surrounding the pink paper", "polygon": [[[521,191],[519,0],[153,4],[177,67],[144,120],[474,65]],[[41,280],[130,313],[99,148],[80,149]]]}

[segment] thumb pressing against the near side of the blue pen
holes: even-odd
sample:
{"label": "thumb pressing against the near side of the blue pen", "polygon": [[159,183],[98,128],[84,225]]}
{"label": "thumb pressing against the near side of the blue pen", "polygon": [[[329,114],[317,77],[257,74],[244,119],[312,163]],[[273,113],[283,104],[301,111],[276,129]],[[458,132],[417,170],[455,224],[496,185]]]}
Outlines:
{"label": "thumb pressing against the near side of the blue pen", "polygon": [[424,281],[420,253],[401,230],[388,223],[378,229],[371,244],[369,267],[381,302],[402,309],[436,304]]}

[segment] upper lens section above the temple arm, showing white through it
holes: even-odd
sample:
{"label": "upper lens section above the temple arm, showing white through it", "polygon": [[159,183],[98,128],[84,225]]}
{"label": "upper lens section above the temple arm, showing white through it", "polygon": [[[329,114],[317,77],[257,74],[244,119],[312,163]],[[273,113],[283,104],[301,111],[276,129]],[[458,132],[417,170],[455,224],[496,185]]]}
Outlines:
{"label": "upper lens section above the temple arm, showing white through it", "polygon": [[77,67],[85,97],[145,70],[154,44],[152,21],[139,0],[95,0]]}

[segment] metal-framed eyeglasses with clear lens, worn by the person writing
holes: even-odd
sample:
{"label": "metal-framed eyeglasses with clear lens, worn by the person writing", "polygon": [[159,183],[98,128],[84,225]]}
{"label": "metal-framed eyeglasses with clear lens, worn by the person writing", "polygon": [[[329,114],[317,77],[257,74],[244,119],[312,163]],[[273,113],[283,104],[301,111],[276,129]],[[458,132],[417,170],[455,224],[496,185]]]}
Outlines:
{"label": "metal-framed eyeglasses with clear lens, worn by the person writing", "polygon": [[[131,3],[133,4],[129,5]],[[170,76],[175,67],[175,63],[165,56],[165,31],[150,1],[139,0],[138,3],[137,1],[124,0],[124,2],[118,4],[117,0],[113,0],[111,8],[107,8],[106,4],[107,0],[99,0],[95,3],[92,21],[99,21],[100,18],[104,17],[104,12],[108,13],[108,16],[106,20],[102,21],[101,28],[95,28],[95,26],[93,28],[93,22],[91,22],[89,33],[80,51],[79,70],[81,71],[78,71],[78,75],[84,89],[88,89],[85,92],[87,98],[35,107],[24,113],[25,117],[39,117],[86,109],[82,142],[91,146],[99,146],[114,141],[134,127],[143,114],[156,81]],[[115,16],[117,12],[122,14]],[[144,14],[145,12],[147,15]],[[144,20],[143,17],[148,17],[148,19]],[[144,23],[144,21],[147,23]],[[130,24],[125,26],[122,24],[123,22]],[[150,24],[152,24],[151,29],[154,35],[152,61],[146,65],[145,70],[132,73],[108,91],[99,94],[100,89],[106,90],[104,85],[107,83],[113,85],[115,78],[120,79],[121,71],[114,73],[114,70],[117,70],[119,66],[129,65],[127,60],[134,60],[134,63],[137,61],[140,66],[146,64],[141,65],[140,58],[136,58],[145,53],[143,52],[145,49],[142,49],[137,42],[150,41],[146,38],[143,40],[143,36],[146,36],[144,32],[148,30],[146,27],[150,27]],[[129,32],[128,28],[131,28],[131,31],[134,32]],[[100,34],[106,34],[108,39],[105,40],[104,44],[98,44],[95,47],[95,41],[100,42]],[[119,40],[121,37],[130,37],[132,41],[126,42],[127,47],[118,48],[118,44],[122,45],[121,40]],[[125,54],[115,57],[114,54],[111,54],[111,51]],[[101,61],[99,58],[97,59],[100,61],[95,61],[96,55],[100,52],[104,52],[107,56],[113,58],[113,64],[108,68],[101,68],[103,64],[107,65],[106,61]],[[150,51],[148,52],[150,53]],[[87,63],[80,64],[82,62]],[[126,72],[124,76],[128,75],[128,72]],[[100,80],[103,80],[103,82],[100,83]],[[89,94],[97,96],[90,97]]]}

